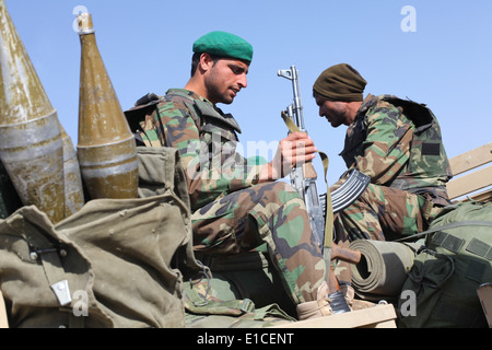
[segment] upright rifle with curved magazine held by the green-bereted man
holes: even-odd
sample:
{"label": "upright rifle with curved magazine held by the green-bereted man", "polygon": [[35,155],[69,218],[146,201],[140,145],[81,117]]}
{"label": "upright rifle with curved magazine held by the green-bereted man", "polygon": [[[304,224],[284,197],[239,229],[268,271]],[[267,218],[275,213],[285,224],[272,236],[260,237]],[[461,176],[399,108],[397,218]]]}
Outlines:
{"label": "upright rifle with curved magazine held by the green-bereted man", "polygon": [[[304,114],[301,97],[301,88],[298,82],[298,71],[296,70],[295,66],[291,66],[289,70],[279,70],[278,75],[292,81],[292,88],[294,93],[294,100],[292,104],[289,105],[285,110],[282,110],[282,118],[284,119],[291,132],[293,131],[307,132],[304,125]],[[328,158],[323,152],[319,152],[319,154],[321,155],[324,162],[325,180],[326,180]],[[343,194],[343,196],[338,197],[345,198],[347,196],[344,196],[344,194],[348,191],[351,194],[353,192],[361,194],[365,189],[367,185],[366,182],[356,180],[361,178],[360,176],[358,177],[359,174],[356,173],[354,175],[354,173],[352,172],[351,175],[352,176],[349,176],[350,180],[348,180],[339,188],[340,190],[339,194]],[[336,257],[344,261],[358,264],[361,259],[361,253],[358,250],[341,248],[337,244],[335,244],[332,231],[333,211],[331,206],[331,194],[328,190],[326,195],[321,196],[318,195],[318,190],[316,187],[317,174],[313,166],[313,163],[309,161],[304,163],[302,167],[294,166],[291,170],[290,177],[292,186],[297,190],[301,198],[306,203],[311,230],[316,240],[316,243],[318,244],[318,246],[323,252],[325,262],[327,264],[328,285],[331,293],[330,298],[332,298],[333,301],[336,299],[338,300],[337,303],[338,305],[337,306],[332,305],[333,312],[345,312],[347,304],[343,300],[343,296],[341,296],[340,299],[341,294],[340,292],[338,292],[340,288],[336,280],[335,273],[331,269],[330,261],[331,258]],[[333,192],[333,195],[336,194]],[[342,201],[343,203],[339,205],[338,206],[339,208],[347,207],[348,200],[343,199]]]}

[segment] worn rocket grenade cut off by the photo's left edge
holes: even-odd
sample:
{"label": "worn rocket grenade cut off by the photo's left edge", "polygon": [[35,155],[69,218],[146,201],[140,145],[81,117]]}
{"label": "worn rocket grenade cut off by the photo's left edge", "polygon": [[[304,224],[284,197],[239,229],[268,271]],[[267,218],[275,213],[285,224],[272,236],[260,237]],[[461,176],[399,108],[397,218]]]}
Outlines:
{"label": "worn rocket grenade cut off by the photo's left edge", "polygon": [[0,0],[0,159],[23,205],[65,218],[63,148],[51,106]]}

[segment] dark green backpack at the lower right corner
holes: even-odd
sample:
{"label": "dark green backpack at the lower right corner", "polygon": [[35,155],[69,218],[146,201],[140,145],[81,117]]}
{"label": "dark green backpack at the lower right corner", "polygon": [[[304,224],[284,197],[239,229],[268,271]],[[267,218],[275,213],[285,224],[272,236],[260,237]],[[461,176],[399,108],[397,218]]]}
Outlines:
{"label": "dark green backpack at the lower right corner", "polygon": [[398,302],[399,326],[487,327],[478,288],[492,281],[492,203],[458,202],[432,221]]}

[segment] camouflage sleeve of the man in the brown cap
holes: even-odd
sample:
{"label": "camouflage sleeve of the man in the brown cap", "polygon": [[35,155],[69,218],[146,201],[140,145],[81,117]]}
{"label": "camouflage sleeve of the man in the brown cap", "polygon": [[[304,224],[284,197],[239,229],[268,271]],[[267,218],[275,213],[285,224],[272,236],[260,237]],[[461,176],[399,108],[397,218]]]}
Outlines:
{"label": "camouflage sleeve of the man in the brown cap", "polygon": [[366,139],[355,166],[371,176],[373,184],[385,185],[406,166],[413,129],[411,121],[387,102],[370,108],[366,116]]}

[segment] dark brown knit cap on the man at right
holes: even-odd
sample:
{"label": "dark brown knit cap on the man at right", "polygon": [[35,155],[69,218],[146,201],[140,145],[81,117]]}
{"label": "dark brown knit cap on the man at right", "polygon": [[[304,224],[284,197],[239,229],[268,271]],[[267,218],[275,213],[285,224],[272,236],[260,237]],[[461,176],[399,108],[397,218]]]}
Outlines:
{"label": "dark brown knit cap on the man at right", "polygon": [[366,84],[355,69],[341,63],[326,69],[314,83],[313,91],[329,101],[363,101]]}

